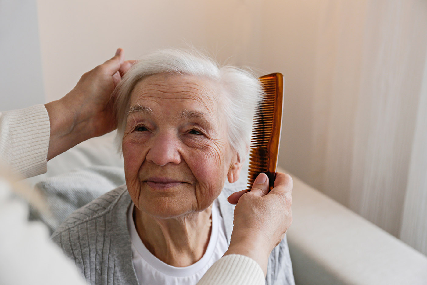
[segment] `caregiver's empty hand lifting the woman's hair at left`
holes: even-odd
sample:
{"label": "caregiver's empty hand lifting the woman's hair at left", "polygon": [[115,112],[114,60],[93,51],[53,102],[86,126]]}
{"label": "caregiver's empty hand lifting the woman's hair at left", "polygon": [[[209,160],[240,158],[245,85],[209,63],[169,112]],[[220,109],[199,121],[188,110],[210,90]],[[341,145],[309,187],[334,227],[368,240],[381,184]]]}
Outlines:
{"label": "caregiver's empty hand lifting the woman's hair at left", "polygon": [[131,64],[119,48],[111,59],[83,74],[67,95],[44,105],[50,119],[47,160],[117,127],[111,93]]}

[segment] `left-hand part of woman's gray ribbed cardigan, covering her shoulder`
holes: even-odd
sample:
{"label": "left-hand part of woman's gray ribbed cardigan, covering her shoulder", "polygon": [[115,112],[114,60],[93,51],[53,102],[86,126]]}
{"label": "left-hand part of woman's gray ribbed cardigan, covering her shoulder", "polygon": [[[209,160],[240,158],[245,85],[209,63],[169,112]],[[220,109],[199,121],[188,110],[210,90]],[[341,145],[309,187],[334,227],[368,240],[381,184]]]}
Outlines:
{"label": "left-hand part of woman's gray ribbed cardigan, covering her shoulder", "polygon": [[[132,252],[126,213],[132,200],[122,185],[73,212],[52,235],[91,284],[97,279],[132,279]],[[122,276],[125,272],[126,276]]]}

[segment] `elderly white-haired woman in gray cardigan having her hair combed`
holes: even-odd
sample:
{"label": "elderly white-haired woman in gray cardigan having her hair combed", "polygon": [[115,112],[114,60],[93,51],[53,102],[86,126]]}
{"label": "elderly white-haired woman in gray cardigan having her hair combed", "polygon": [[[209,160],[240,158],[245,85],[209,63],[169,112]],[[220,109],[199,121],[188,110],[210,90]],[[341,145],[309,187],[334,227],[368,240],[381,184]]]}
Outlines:
{"label": "elderly white-haired woman in gray cardigan having her hair combed", "polygon": [[[52,237],[88,282],[195,284],[227,252],[234,207],[226,198],[246,188],[239,176],[261,94],[248,72],[186,51],[149,54],[127,71],[115,90],[126,185]],[[266,282],[293,284],[286,239]]]}

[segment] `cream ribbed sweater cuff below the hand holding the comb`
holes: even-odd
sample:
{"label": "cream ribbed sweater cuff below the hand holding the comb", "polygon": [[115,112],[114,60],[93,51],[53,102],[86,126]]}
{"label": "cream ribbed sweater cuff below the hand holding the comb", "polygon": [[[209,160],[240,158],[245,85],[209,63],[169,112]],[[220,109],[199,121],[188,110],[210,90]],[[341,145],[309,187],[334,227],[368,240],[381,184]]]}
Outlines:
{"label": "cream ribbed sweater cuff below the hand holding the comb", "polygon": [[265,276],[252,258],[231,254],[216,261],[197,284],[264,285]]}

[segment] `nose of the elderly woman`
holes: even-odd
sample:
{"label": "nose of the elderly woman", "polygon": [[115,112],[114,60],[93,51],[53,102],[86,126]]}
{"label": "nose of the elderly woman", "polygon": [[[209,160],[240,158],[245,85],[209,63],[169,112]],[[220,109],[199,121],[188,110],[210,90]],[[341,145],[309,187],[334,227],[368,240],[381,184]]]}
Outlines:
{"label": "nose of the elderly woman", "polygon": [[179,164],[178,139],[172,134],[156,134],[151,138],[146,160],[163,166],[167,163]]}

